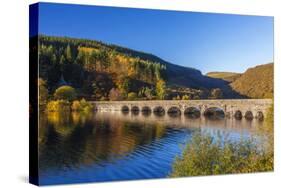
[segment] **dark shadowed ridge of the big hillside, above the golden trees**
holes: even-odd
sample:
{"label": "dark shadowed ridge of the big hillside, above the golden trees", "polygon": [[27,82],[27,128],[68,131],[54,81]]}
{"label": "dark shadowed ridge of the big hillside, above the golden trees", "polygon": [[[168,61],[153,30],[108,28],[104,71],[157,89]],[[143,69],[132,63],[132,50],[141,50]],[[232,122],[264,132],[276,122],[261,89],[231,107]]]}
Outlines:
{"label": "dark shadowed ridge of the big hillside, above the golden trees", "polygon": [[[111,51],[118,54],[121,54],[125,57],[130,57],[132,59],[141,61],[148,61],[152,63],[159,63],[165,66],[165,70],[163,71],[163,76],[165,76],[168,84],[177,85],[177,86],[185,86],[185,87],[204,87],[204,88],[213,88],[213,87],[221,87],[225,84],[225,82],[213,79],[201,74],[199,70],[189,67],[183,67],[179,65],[175,65],[169,63],[155,55],[135,51],[132,49],[124,48],[116,45],[109,45],[102,43],[100,41],[94,40],[86,40],[86,39],[74,39],[68,37],[50,37],[50,36],[40,36],[40,42],[42,45],[48,46],[50,44],[60,45],[60,48],[66,48],[67,45],[70,45],[73,51],[73,55],[77,56],[79,53],[78,46],[86,47],[88,51],[91,49],[102,49],[104,51]],[[81,51],[81,50],[80,50]]]}

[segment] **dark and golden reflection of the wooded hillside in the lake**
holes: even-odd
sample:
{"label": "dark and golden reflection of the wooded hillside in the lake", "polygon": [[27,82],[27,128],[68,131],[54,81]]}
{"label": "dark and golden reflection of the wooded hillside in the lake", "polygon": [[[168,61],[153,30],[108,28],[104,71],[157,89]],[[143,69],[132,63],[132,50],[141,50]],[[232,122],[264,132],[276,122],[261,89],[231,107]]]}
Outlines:
{"label": "dark and golden reflection of the wooded hillside in the lake", "polygon": [[161,123],[136,123],[95,114],[51,113],[40,116],[40,170],[75,168],[116,160],[137,146],[165,136]]}

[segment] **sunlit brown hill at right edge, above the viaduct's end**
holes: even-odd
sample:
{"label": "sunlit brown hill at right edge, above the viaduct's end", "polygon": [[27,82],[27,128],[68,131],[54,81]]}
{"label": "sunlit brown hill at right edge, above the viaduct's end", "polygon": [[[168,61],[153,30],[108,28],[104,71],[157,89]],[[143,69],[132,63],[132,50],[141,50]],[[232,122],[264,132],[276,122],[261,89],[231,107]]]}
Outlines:
{"label": "sunlit brown hill at right edge, above the viaduct's end", "polygon": [[250,98],[272,98],[273,63],[249,68],[230,86],[234,91]]}

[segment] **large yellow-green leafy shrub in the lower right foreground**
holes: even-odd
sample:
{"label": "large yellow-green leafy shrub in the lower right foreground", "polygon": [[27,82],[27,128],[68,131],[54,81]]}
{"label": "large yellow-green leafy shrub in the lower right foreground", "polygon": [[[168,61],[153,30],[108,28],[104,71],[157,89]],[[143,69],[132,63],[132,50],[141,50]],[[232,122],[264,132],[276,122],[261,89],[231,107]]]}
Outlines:
{"label": "large yellow-green leafy shrub in the lower right foreground", "polygon": [[171,177],[273,170],[273,153],[254,141],[230,142],[218,136],[195,134],[177,158]]}

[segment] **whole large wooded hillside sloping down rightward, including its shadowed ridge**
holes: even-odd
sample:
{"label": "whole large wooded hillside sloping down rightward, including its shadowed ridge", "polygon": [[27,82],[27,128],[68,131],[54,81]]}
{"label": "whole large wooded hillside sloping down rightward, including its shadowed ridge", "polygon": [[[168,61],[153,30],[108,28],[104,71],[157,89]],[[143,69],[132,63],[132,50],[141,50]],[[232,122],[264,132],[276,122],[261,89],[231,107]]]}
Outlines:
{"label": "whole large wooded hillside sloping down rightward, including its shadowed ridge", "polygon": [[224,98],[238,96],[228,82],[202,75],[194,68],[121,46],[68,37],[39,36],[39,76],[49,93],[67,84],[79,96],[94,100],[108,100],[111,91],[122,98],[129,93],[159,98],[165,88],[166,99],[178,95],[206,98],[212,88],[220,88]]}

